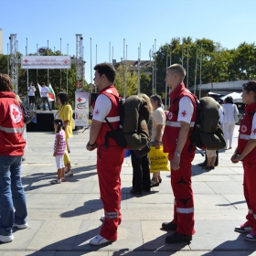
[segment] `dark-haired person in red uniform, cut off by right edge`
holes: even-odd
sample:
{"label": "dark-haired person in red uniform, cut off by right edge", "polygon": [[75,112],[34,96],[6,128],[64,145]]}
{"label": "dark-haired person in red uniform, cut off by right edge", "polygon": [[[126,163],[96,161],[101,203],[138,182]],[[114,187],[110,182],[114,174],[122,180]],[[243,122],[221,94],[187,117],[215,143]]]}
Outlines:
{"label": "dark-haired person in red uniform, cut off by right edge", "polygon": [[242,162],[243,193],[248,214],[247,221],[236,227],[235,231],[248,233],[245,240],[256,241],[256,80],[242,85],[242,101],[245,103],[245,114],[240,122],[239,143],[231,162]]}

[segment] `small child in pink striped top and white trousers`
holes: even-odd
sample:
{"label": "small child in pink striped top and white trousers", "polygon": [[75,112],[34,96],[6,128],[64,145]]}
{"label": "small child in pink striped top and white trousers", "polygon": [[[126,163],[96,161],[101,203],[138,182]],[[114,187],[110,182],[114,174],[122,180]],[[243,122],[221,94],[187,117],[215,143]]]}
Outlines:
{"label": "small child in pink striped top and white trousers", "polygon": [[51,184],[60,184],[65,179],[64,154],[66,150],[66,134],[64,131],[64,123],[62,119],[55,119],[53,123],[54,129],[56,131],[53,156],[55,156],[56,160],[58,178],[52,180]]}

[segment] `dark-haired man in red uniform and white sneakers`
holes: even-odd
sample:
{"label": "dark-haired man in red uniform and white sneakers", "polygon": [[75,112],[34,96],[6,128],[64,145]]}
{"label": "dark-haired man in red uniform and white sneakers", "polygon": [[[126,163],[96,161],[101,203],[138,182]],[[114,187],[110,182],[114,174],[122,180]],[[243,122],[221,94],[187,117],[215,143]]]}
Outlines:
{"label": "dark-haired man in red uniform and white sneakers", "polygon": [[90,240],[91,245],[102,245],[117,240],[117,228],[121,223],[121,167],[124,149],[109,138],[109,146],[105,147],[105,135],[111,131],[105,118],[116,130],[119,125],[118,91],[113,86],[115,69],[111,64],[101,63],[94,67],[94,84],[99,89],[99,96],[93,103],[90,140],[87,150],[97,147],[97,172],[101,200],[104,207],[104,223],[98,236]]}

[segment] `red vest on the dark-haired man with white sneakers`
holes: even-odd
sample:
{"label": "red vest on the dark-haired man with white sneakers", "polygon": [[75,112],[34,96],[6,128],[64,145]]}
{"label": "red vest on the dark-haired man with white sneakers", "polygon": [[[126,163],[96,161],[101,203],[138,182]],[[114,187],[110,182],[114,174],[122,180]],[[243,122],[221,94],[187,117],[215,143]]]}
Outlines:
{"label": "red vest on the dark-haired man with white sneakers", "polygon": [[[109,112],[109,114],[106,116],[106,118],[112,124],[112,128],[114,130],[116,130],[118,128],[119,120],[120,120],[120,116],[119,116],[120,96],[119,96],[119,93],[115,89],[115,87],[113,85],[111,85],[111,86],[106,87],[106,88],[102,89],[101,91],[99,91],[99,95],[100,94],[106,95],[112,101],[112,109]],[[93,109],[94,109],[94,107],[95,107],[95,102],[92,105]],[[97,110],[96,110],[96,112],[97,112]],[[105,135],[108,131],[111,131],[111,128],[109,127],[108,123],[106,123],[106,121],[103,121],[103,123],[101,125],[101,131],[96,140],[97,144],[105,144]],[[108,144],[109,145],[117,145],[116,142],[112,138],[109,138]]]}

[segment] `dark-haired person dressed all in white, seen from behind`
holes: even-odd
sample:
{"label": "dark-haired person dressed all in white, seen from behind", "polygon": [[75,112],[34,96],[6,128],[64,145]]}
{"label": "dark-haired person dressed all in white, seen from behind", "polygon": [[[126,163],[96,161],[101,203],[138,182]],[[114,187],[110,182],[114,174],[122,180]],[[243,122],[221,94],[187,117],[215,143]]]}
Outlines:
{"label": "dark-haired person dressed all in white, seen from behind", "polygon": [[235,130],[235,118],[234,113],[239,114],[239,110],[236,106],[236,104],[233,103],[232,97],[227,97],[224,101],[223,105],[223,132],[224,132],[224,138],[226,141],[226,148],[230,149],[232,148],[232,140],[233,140],[233,133]]}

